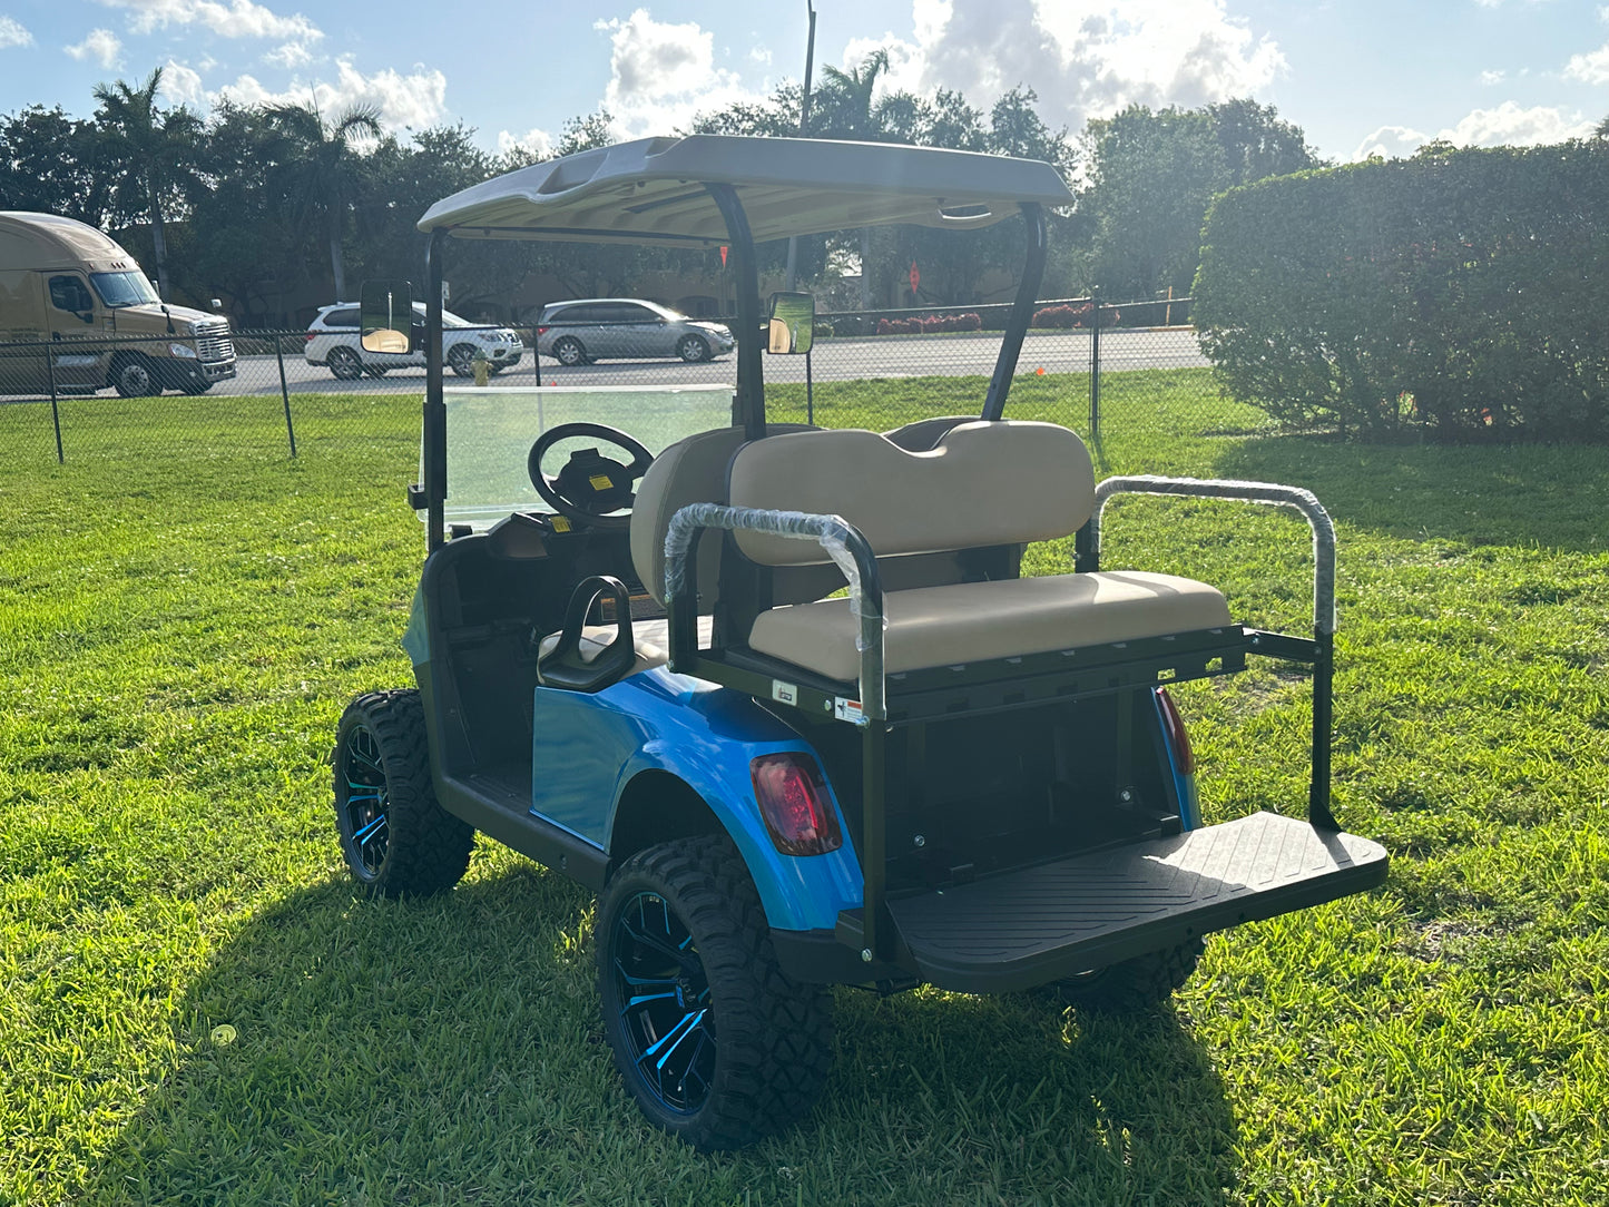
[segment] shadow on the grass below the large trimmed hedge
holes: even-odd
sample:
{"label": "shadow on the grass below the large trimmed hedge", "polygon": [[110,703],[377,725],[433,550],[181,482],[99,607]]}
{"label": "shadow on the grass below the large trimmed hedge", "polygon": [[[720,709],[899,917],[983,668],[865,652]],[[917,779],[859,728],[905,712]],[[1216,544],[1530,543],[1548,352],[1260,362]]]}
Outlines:
{"label": "shadow on the grass below the large trimmed hedge", "polygon": [[1271,436],[1226,447],[1212,473],[1303,486],[1335,520],[1395,538],[1574,552],[1609,547],[1603,447]]}

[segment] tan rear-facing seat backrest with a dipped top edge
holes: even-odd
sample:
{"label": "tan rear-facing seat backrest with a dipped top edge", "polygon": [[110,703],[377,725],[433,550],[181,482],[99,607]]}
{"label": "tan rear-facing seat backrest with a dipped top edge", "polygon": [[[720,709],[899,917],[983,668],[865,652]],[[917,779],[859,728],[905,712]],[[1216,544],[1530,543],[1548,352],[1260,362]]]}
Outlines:
{"label": "tan rear-facing seat backrest with a dipped top edge", "polygon": [[[1089,518],[1094,492],[1089,451],[1073,431],[978,420],[925,452],[859,430],[756,441],[732,459],[727,497],[734,507],[842,515],[888,557],[1067,536]],[[809,541],[739,533],[737,544],[763,565],[825,560]]]}

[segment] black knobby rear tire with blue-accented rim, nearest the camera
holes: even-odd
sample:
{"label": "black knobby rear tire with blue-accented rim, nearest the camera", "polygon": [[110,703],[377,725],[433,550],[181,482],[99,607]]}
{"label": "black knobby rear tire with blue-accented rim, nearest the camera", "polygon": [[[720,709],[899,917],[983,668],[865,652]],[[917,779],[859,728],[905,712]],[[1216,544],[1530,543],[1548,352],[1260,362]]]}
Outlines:
{"label": "black knobby rear tire with blue-accented rim, nearest the camera", "polygon": [[639,851],[597,927],[603,1032],[648,1120],[710,1152],[809,1112],[832,1064],[832,996],[782,974],[726,835]]}

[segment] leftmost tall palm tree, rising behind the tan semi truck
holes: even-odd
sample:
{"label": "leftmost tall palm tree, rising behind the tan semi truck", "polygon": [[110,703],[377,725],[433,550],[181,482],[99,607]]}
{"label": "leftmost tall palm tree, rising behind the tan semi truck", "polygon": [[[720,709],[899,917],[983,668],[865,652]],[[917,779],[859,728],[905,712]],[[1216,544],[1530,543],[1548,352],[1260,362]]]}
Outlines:
{"label": "leftmost tall palm tree, rising behind the tan semi truck", "polygon": [[[156,288],[166,301],[167,293],[167,232],[163,206],[174,200],[174,192],[196,179],[201,119],[180,105],[175,109],[158,109],[156,93],[163,85],[163,69],[156,68],[140,87],[127,80],[97,84],[95,100],[100,108],[95,121],[113,145],[121,179],[113,185],[113,195],[122,198],[129,212],[146,212],[151,222],[151,243],[156,253]],[[132,204],[132,198],[140,198]]]}

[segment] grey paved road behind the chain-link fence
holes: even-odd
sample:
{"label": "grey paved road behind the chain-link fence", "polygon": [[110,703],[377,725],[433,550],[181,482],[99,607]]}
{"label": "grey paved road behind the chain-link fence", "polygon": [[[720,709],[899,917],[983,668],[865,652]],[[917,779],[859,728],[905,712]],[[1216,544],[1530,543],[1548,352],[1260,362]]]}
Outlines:
{"label": "grey paved road behind the chain-link fence", "polygon": [[[998,336],[924,335],[912,338],[824,340],[811,356],[816,381],[850,381],[875,377],[969,377],[988,375],[994,369]],[[1105,373],[1131,369],[1189,369],[1208,360],[1195,344],[1194,332],[1102,332],[1101,370]],[[1088,332],[1030,332],[1023,341],[1017,372],[1033,373],[1089,372]],[[533,378],[529,352],[523,364],[492,378],[494,385],[529,385]],[[542,381],[558,385],[716,385],[737,378],[737,356],[724,356],[702,365],[679,360],[605,360],[595,365],[565,369],[544,357]],[[451,373],[449,383],[459,381]],[[804,357],[767,356],[767,381],[803,381]],[[285,357],[285,383],[291,393],[378,393],[423,389],[425,370],[393,370],[383,378],[338,381],[328,369],[309,365],[301,357]],[[277,394],[278,365],[272,356],[243,356],[238,377],[212,388],[212,394]]]}

